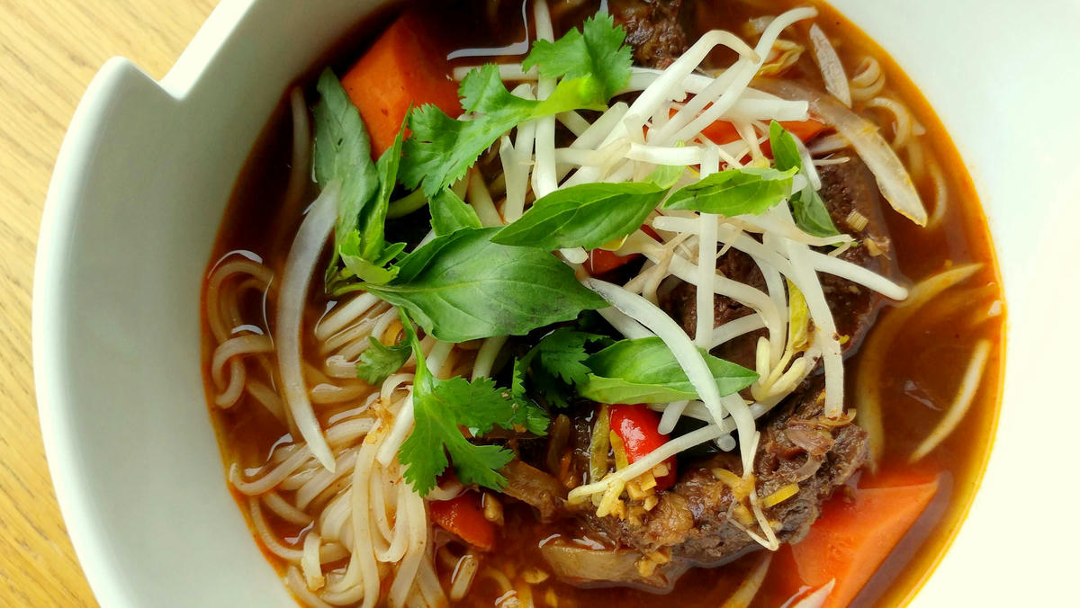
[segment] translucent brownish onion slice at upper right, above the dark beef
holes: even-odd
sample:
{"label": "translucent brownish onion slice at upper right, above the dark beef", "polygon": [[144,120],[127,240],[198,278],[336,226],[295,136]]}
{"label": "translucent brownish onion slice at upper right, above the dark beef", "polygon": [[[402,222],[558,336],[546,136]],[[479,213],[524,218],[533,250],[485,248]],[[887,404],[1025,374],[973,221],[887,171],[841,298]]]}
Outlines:
{"label": "translucent brownish onion slice at upper right, above the dark beef", "polygon": [[874,123],[860,117],[835,98],[811,91],[791,81],[765,81],[758,83],[782,97],[788,99],[806,99],[810,102],[810,110],[824,119],[843,136],[874,173],[878,188],[896,213],[910,219],[919,226],[927,225],[927,210],[919,199],[919,192],[912,183],[912,176],[904,168],[904,163],[893,151],[892,146],[881,137]]}

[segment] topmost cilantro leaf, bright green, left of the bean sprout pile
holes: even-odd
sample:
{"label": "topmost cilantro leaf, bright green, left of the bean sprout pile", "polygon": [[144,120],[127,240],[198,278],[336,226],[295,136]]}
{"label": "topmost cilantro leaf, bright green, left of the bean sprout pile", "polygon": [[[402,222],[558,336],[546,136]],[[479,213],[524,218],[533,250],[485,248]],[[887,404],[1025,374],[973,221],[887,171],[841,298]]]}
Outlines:
{"label": "topmost cilantro leaf, bright green, left of the bean sprout pile", "polygon": [[605,99],[626,86],[633,63],[630,46],[623,45],[626,31],[615,25],[609,14],[597,14],[558,40],[537,40],[522,67],[537,66],[544,78],[591,78],[597,81]]}

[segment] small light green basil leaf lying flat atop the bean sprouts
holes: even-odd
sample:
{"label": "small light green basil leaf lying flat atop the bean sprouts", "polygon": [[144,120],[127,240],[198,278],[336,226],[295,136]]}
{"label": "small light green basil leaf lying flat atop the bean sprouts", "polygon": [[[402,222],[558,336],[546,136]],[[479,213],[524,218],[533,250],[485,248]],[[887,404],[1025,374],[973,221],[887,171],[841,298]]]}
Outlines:
{"label": "small light green basil leaf lying flat atop the bean sprouts", "polygon": [[664,208],[691,210],[728,217],[759,214],[792,191],[795,170],[729,168],[675,191]]}

